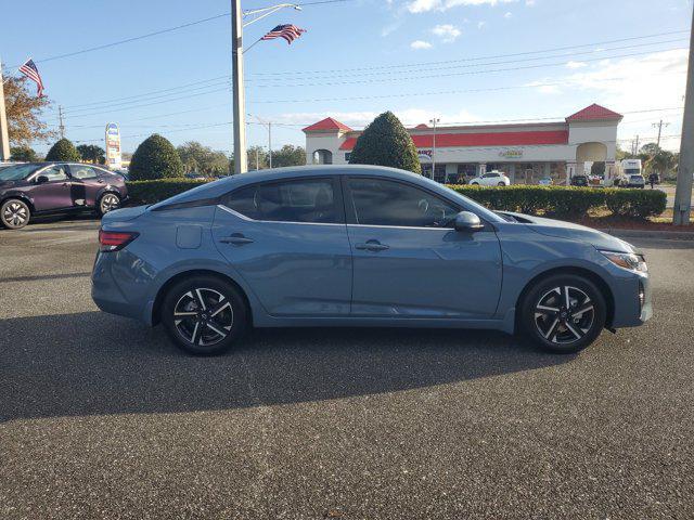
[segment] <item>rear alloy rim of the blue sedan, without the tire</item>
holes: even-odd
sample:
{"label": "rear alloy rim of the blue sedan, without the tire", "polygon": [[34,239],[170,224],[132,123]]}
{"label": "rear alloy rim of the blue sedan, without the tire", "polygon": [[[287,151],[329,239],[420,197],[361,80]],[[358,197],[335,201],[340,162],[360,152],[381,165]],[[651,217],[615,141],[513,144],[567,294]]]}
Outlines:
{"label": "rear alloy rim of the blue sedan, without the tire", "polygon": [[234,324],[231,300],[215,289],[191,289],[176,303],[174,324],[189,343],[200,347],[217,344],[229,336]]}

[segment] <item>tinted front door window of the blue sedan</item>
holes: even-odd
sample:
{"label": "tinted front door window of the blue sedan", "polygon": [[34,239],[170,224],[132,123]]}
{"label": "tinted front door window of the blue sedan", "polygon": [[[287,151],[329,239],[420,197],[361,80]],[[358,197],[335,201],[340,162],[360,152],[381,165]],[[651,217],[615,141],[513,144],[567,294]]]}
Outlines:
{"label": "tinted front door window of the blue sedan", "polygon": [[358,224],[441,227],[459,212],[429,192],[383,179],[348,181]]}

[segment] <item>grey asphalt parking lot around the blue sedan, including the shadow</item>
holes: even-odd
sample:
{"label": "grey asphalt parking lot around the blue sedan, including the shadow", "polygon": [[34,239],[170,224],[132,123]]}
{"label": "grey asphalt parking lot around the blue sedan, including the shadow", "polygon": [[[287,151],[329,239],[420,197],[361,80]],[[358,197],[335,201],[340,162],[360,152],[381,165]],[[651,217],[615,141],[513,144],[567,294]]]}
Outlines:
{"label": "grey asphalt parking lot around the blue sedan, including the shadow", "polygon": [[556,356],[498,333],[254,332],[195,359],[89,296],[98,223],[0,231],[0,518],[694,517],[694,242],[655,317]]}

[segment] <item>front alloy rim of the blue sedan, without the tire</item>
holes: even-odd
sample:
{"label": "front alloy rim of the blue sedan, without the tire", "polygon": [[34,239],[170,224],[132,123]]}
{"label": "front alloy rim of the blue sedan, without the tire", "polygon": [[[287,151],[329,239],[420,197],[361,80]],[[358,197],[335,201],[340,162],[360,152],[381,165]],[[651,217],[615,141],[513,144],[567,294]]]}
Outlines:
{"label": "front alloy rim of the blue sedan, without the tire", "polygon": [[593,301],[583,290],[569,285],[547,291],[535,308],[538,332],[556,344],[570,344],[582,339],[594,321]]}

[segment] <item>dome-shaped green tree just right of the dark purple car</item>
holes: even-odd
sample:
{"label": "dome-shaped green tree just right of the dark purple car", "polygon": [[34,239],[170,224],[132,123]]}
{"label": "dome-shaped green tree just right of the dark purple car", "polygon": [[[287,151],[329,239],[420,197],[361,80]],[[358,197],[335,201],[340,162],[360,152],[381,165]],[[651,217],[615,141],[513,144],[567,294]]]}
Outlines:
{"label": "dome-shaped green tree just right of the dark purple car", "polygon": [[153,133],[132,154],[128,171],[133,181],[176,178],[183,176],[183,164],[174,145]]}

